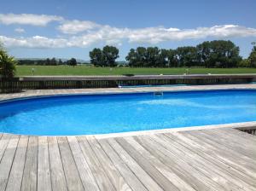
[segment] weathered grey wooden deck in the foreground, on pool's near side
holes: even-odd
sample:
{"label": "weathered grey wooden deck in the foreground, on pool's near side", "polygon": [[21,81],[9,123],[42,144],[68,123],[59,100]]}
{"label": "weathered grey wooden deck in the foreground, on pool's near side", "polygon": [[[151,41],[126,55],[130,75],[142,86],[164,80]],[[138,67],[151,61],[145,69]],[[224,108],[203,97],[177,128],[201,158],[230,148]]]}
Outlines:
{"label": "weathered grey wooden deck in the foreground, on pool's near side", "polygon": [[231,128],[97,139],[0,133],[0,190],[256,190],[256,136]]}

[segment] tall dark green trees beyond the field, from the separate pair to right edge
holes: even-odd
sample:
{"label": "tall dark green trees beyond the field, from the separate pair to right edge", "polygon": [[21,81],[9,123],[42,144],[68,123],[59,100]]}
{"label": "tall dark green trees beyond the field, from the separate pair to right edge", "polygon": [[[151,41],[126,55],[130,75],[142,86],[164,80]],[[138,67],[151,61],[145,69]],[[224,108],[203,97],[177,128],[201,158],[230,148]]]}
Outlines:
{"label": "tall dark green trees beyond the field, from the separate pair to right edge", "polygon": [[[177,49],[137,47],[125,57],[129,67],[256,67],[256,46],[247,59],[239,55],[239,47],[230,40],[206,41],[197,46]],[[119,49],[105,46],[90,51],[90,63],[96,67],[115,67]]]}

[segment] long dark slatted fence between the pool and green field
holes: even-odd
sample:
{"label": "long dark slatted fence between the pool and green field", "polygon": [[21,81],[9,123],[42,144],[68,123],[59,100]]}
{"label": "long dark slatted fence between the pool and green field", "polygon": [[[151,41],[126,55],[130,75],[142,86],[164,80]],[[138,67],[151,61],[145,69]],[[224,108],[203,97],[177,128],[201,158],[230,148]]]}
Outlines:
{"label": "long dark slatted fence between the pool and green field", "polygon": [[251,83],[255,79],[256,75],[242,74],[1,78],[0,93],[43,89],[115,88],[119,85],[242,84]]}

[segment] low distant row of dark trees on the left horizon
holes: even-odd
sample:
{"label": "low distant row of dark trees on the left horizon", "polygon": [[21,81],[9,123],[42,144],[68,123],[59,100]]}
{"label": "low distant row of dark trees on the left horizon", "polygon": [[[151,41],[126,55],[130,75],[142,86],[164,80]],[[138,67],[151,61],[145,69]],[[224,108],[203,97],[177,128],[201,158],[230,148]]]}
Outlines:
{"label": "low distant row of dark trees on the left horizon", "polygon": [[67,61],[62,61],[61,59],[55,58],[47,58],[47,59],[22,59],[17,61],[18,65],[42,65],[42,66],[57,66],[57,65],[69,65],[69,66],[76,66],[80,64],[75,58],[71,58]]}

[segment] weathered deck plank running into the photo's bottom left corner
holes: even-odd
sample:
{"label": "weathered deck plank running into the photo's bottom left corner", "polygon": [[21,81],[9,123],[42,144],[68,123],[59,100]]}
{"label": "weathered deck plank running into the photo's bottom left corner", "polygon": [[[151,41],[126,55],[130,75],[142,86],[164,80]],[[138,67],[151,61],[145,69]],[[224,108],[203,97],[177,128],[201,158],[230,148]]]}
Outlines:
{"label": "weathered deck plank running into the photo's bottom left corner", "polygon": [[3,191],[6,188],[9,171],[13,165],[13,159],[15,158],[15,152],[20,136],[12,136],[7,148],[3,154],[3,158],[0,163],[0,190]]}

